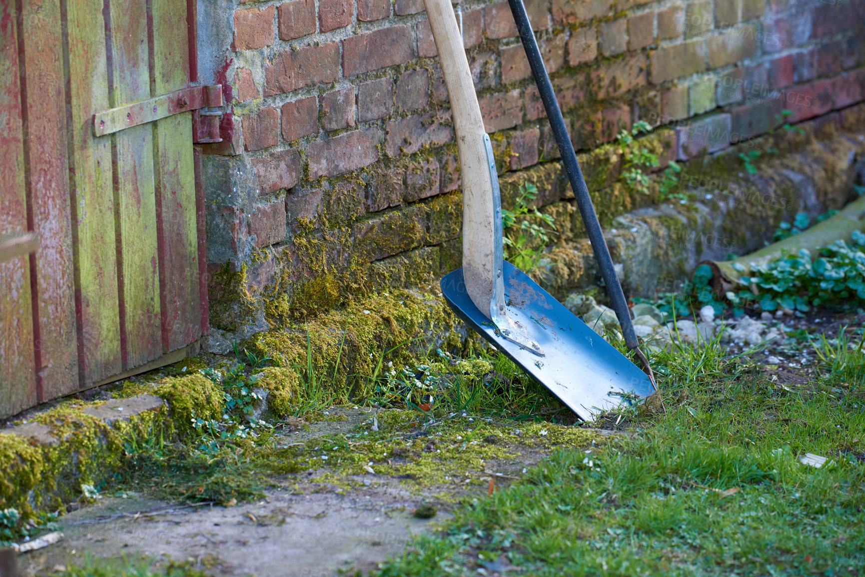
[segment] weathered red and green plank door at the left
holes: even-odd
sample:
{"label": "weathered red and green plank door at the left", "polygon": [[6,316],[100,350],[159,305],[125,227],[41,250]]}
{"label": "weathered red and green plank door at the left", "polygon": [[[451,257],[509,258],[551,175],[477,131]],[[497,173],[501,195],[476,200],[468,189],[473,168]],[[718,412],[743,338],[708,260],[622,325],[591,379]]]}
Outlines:
{"label": "weathered red and green plank door at the left", "polygon": [[40,241],[0,263],[2,417],[170,362],[207,292],[201,103],[172,100],[197,94],[195,0],[0,0],[0,53],[0,234]]}

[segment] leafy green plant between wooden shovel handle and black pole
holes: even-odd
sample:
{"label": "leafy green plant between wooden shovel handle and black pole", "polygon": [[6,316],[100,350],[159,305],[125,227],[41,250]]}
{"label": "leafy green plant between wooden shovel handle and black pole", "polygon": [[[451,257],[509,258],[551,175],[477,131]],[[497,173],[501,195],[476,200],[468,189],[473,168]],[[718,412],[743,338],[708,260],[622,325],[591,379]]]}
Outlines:
{"label": "leafy green plant between wooden shovel handle and black pole", "polygon": [[543,214],[533,201],[538,189],[532,183],[522,183],[513,210],[502,208],[504,258],[524,272],[537,266],[549,237],[558,234],[555,220]]}

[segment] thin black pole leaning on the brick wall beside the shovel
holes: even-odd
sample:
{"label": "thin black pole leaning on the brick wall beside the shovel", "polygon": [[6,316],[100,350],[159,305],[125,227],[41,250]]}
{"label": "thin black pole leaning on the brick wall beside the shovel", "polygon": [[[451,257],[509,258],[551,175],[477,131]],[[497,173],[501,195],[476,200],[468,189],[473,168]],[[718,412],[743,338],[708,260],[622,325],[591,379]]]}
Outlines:
{"label": "thin black pole leaning on the brick wall beside the shovel", "polygon": [[573,152],[573,144],[571,144],[571,138],[567,134],[565,120],[561,118],[559,102],[555,99],[553,85],[549,81],[547,68],[544,67],[543,59],[541,58],[541,51],[538,50],[538,44],[535,42],[535,34],[532,32],[532,26],[529,23],[529,16],[526,14],[525,6],[522,5],[522,0],[508,0],[508,3],[516,21],[516,28],[520,31],[522,47],[525,48],[526,56],[529,57],[529,66],[532,68],[535,83],[538,86],[538,91],[541,93],[543,106],[547,110],[547,118],[549,119],[549,125],[553,128],[555,142],[559,145],[561,160],[565,163],[567,178],[571,182],[573,196],[576,198],[577,206],[580,208],[580,215],[583,217],[586,233],[592,242],[592,250],[595,260],[598,261],[598,266],[600,267],[601,278],[604,279],[606,292],[610,295],[612,309],[616,311],[618,324],[622,326],[622,335],[625,337],[625,344],[628,345],[628,349],[637,349],[637,334],[634,332],[633,323],[631,323],[631,311],[628,310],[625,292],[622,291],[622,285],[618,283],[618,277],[616,276],[616,269],[612,266],[610,249],[606,246],[604,233],[600,229],[598,215],[595,213],[594,205],[592,204],[592,197],[589,196],[589,189],[586,187],[586,179],[583,178],[580,163],[577,162],[577,155]]}

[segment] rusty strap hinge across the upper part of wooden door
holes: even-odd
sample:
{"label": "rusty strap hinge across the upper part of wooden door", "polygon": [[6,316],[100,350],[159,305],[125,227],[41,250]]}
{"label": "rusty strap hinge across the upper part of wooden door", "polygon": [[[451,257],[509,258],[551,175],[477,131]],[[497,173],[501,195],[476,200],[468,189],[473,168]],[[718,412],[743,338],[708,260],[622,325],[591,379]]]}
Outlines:
{"label": "rusty strap hinge across the upper part of wooden door", "polygon": [[[180,112],[206,109],[206,115],[216,118],[216,136],[219,136],[217,112],[222,106],[222,85],[189,87],[173,93],[163,94],[151,99],[141,100],[125,106],[118,106],[105,112],[93,114],[93,136],[105,136],[132,126],[143,125],[154,120],[164,119]],[[194,113],[195,115],[195,113]],[[195,131],[195,135],[199,132]],[[219,142],[208,140],[207,142]]]}

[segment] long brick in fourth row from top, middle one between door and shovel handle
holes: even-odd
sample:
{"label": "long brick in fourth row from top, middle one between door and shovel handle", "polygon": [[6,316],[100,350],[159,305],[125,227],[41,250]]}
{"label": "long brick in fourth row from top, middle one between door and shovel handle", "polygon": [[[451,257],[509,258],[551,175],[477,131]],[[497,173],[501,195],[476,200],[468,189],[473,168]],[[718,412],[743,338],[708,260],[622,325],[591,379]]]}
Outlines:
{"label": "long brick in fourth row from top, middle one between door and shovel handle", "polygon": [[375,163],[380,140],[381,131],[377,128],[343,132],[334,138],[317,140],[306,147],[310,179],[336,176]]}

